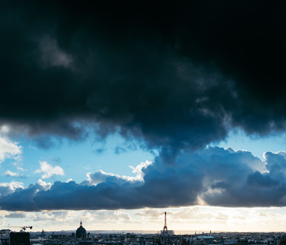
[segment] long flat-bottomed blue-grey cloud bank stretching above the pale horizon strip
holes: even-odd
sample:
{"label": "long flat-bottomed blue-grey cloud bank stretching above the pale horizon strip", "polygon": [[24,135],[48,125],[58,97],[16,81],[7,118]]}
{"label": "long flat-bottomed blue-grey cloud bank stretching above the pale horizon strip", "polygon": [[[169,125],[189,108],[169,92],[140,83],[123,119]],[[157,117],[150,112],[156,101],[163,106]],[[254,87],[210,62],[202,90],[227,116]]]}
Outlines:
{"label": "long flat-bottomed blue-grey cloud bank stretching above the pale horizon strip", "polygon": [[[164,208],[200,204],[253,207],[285,206],[285,152],[267,152],[266,162],[247,151],[208,147],[192,154],[179,154],[173,164],[164,157],[142,168],[143,180],[88,173],[81,184],[42,182],[16,188],[0,196],[0,207],[11,211],[117,210]],[[272,166],[268,172],[265,169]],[[274,168],[275,165],[275,168]],[[268,167],[267,167],[268,168]],[[260,170],[259,170],[260,169]],[[8,188],[8,186],[7,186]]]}

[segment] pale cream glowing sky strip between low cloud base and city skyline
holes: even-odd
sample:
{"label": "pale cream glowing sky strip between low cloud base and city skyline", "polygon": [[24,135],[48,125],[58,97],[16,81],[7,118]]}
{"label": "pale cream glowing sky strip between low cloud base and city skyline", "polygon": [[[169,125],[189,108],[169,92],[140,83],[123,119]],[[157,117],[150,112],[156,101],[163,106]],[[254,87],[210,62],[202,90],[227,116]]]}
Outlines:
{"label": "pale cream glowing sky strip between low cloud base and city skyline", "polygon": [[[2,211],[3,212],[3,211]],[[82,220],[87,231],[151,230],[164,227],[164,212],[158,209],[124,211],[53,211],[27,215],[27,219],[5,218],[7,226],[32,225],[32,232],[76,230]],[[24,212],[23,212],[24,213]],[[199,232],[285,232],[285,208],[218,208],[194,206],[166,209],[168,230]],[[18,212],[18,215],[22,212]],[[29,217],[29,218],[28,218]],[[38,222],[31,222],[37,217]],[[51,221],[45,220],[51,219]],[[41,220],[41,221],[40,221]],[[45,221],[44,221],[45,220]],[[271,220],[271,223],[269,223]],[[20,223],[20,224],[19,224]],[[269,229],[271,226],[271,230]],[[15,228],[11,230],[17,231]],[[20,229],[19,229],[20,230]],[[176,233],[175,233],[176,234]]]}

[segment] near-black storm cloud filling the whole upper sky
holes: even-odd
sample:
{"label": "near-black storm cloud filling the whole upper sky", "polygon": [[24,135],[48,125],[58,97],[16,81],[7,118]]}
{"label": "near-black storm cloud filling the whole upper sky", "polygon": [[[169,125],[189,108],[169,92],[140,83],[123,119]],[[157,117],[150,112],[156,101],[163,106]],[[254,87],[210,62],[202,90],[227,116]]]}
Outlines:
{"label": "near-black storm cloud filling the whole upper sky", "polygon": [[171,153],[222,140],[233,126],[285,130],[279,3],[2,1],[0,9],[0,124],[38,146],[83,140],[93,128]]}

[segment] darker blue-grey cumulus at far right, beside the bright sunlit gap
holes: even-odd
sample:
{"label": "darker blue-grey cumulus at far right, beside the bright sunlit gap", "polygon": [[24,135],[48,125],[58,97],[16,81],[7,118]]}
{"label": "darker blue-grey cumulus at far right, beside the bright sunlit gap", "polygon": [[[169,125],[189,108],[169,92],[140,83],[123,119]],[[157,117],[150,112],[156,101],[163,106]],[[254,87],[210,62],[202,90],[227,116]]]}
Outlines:
{"label": "darker blue-grey cumulus at far right, beside the bright sunlit gap", "polygon": [[269,172],[260,173],[247,166],[233,168],[233,173],[229,172],[227,179],[211,185],[212,192],[204,194],[204,200],[210,205],[219,206],[285,206],[284,174],[277,174],[276,168],[271,168],[271,164],[278,159],[278,168],[284,165],[285,152],[266,152],[264,156]]}

